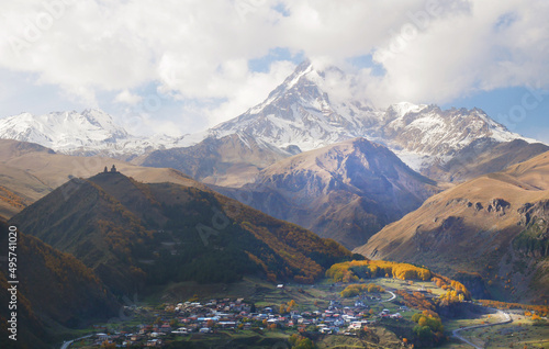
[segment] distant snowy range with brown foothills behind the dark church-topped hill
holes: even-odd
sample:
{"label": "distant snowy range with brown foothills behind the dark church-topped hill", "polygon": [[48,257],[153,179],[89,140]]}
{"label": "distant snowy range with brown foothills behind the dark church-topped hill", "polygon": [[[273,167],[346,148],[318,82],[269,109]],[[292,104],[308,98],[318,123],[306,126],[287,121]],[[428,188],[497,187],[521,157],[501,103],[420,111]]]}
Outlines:
{"label": "distant snowy range with brown foothills behind the dark church-topped hill", "polygon": [[[447,183],[501,171],[549,150],[478,109],[403,102],[380,110],[359,93],[341,93],[340,86],[352,88],[352,77],[304,61],[262,103],[177,138],[132,136],[98,110],[0,120],[0,138],[35,142],[58,153],[4,156],[3,162],[14,168],[7,178],[21,171],[32,178],[24,189],[1,187],[0,209],[5,217],[13,215],[67,179],[91,176],[100,162],[97,157],[88,164],[67,158],[78,165],[46,174],[53,164],[66,166],[58,160],[63,156],[110,155],[141,166],[142,172],[173,168],[232,198],[247,194],[246,203],[255,209],[355,248]],[[89,166],[91,159],[96,166]],[[128,172],[127,162],[114,164],[150,181],[150,174]],[[55,181],[44,180],[52,174]]]}

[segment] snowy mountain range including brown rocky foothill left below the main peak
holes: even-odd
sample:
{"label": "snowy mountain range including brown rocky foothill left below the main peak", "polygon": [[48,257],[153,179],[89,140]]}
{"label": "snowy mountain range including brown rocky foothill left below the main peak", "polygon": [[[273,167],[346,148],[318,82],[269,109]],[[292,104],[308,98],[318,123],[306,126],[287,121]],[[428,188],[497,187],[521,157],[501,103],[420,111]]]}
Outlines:
{"label": "snowy mountain range including brown rocky foothill left below the main peak", "polygon": [[[37,143],[70,155],[137,157],[137,165],[166,167],[163,164],[169,161],[197,180],[224,187],[242,185],[281,157],[356,137],[386,146],[412,169],[435,180],[451,180],[451,166],[446,168],[450,174],[439,169],[479,139],[536,143],[479,109],[441,110],[407,102],[377,109],[360,93],[341,92],[346,89],[357,89],[352,76],[335,67],[315,69],[305,60],[264,102],[197,134],[133,136],[107,113],[86,110],[1,119],[0,139]],[[204,155],[206,164],[187,165]],[[238,179],[242,173],[247,176]]]}

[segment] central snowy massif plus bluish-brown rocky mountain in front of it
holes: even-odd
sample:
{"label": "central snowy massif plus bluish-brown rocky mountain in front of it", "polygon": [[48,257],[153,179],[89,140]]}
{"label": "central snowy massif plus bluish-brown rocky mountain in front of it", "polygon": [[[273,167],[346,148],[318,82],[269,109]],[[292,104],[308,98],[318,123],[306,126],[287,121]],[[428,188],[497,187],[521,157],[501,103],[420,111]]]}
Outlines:
{"label": "central snowy massif plus bluish-brown rocky mountain in front of it", "polygon": [[[446,183],[501,171],[549,150],[511,133],[478,109],[444,111],[399,103],[378,110],[366,99],[338,95],[334,80],[348,78],[336,68],[320,71],[305,61],[262,103],[194,136],[204,138],[198,144],[155,150],[133,161],[173,167],[232,198],[246,193],[251,206],[354,248],[447,188]],[[348,154],[335,150],[349,149],[345,143],[355,138],[381,146],[371,147],[368,155],[362,151],[366,147]],[[337,151],[339,160],[323,168],[322,157]],[[388,170],[392,165],[370,170],[365,161],[395,164],[396,157],[432,181],[417,180],[421,176],[407,170],[394,176]],[[349,164],[369,181],[348,185]],[[391,183],[383,195],[374,193],[376,180]],[[401,183],[393,185],[396,181]],[[332,182],[344,184],[336,188]],[[414,183],[413,189],[404,182]]]}

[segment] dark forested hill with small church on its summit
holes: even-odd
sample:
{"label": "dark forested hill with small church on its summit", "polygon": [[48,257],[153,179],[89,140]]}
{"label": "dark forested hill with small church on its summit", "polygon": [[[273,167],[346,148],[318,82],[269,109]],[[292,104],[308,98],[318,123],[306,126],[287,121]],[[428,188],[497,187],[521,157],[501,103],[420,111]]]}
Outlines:
{"label": "dark forested hill with small church on its summit", "polygon": [[115,293],[244,274],[312,282],[350,257],[339,244],[197,188],[121,173],[72,179],[11,221],[92,268]]}

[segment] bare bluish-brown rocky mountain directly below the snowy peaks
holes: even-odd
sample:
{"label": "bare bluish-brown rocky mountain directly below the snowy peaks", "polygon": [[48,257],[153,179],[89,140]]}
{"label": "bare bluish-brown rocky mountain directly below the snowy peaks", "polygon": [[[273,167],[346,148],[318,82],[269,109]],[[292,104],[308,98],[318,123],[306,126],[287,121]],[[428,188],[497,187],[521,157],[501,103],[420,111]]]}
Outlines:
{"label": "bare bluish-brown rocky mountain directly below the snowy peaks", "polygon": [[440,191],[391,150],[365,138],[280,160],[240,189],[214,189],[348,248]]}

